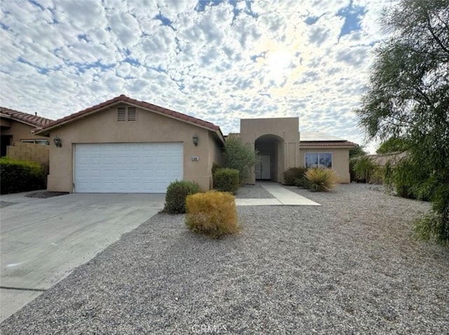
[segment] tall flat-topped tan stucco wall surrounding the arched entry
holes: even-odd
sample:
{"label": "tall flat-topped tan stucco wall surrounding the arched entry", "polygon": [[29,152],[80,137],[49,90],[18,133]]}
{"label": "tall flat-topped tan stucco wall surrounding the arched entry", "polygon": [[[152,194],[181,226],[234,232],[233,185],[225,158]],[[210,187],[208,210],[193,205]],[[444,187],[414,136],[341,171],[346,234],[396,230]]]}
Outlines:
{"label": "tall flat-topped tan stucco wall surrounding the arched entry", "polygon": [[[283,182],[283,172],[300,163],[297,149],[300,144],[299,127],[299,118],[243,118],[240,121],[240,138],[253,146],[264,135],[275,135],[279,139],[277,165],[273,167],[276,176],[273,179]],[[254,173],[249,182],[255,183]]]}

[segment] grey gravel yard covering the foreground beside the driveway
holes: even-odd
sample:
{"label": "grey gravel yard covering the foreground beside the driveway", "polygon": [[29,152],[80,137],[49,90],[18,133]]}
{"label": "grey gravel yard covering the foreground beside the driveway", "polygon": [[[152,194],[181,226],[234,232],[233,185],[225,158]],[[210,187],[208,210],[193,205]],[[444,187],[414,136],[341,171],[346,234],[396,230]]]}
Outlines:
{"label": "grey gravel yard covering the foreground beside the driveway", "polygon": [[449,250],[429,204],[363,184],[321,206],[238,207],[240,235],[157,214],[1,324],[1,334],[449,334]]}

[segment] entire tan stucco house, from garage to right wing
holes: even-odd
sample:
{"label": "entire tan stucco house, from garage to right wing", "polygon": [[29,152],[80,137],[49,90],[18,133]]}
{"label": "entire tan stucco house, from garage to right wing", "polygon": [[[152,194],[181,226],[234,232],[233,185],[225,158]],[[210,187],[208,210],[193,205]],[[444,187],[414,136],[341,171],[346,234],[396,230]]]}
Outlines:
{"label": "entire tan stucco house, from garage to right wing", "polygon": [[[298,129],[299,118],[241,120],[239,136],[262,155],[249,182],[282,182],[284,170],[309,164],[313,155],[316,163],[336,170],[341,182],[349,182],[349,149],[354,144],[329,139],[315,140],[319,145],[314,146],[300,140]],[[51,141],[48,190],[76,193],[165,193],[175,179],[211,189],[212,165],[222,163],[225,144],[213,123],[125,95],[35,133]]]}

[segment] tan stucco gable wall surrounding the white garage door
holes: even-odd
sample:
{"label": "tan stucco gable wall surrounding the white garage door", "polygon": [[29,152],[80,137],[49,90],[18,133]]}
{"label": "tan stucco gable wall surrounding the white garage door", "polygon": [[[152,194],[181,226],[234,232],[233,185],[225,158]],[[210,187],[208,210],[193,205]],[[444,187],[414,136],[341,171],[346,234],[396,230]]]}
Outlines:
{"label": "tan stucco gable wall surrounding the white garage door", "polygon": [[[50,174],[48,190],[73,191],[74,145],[77,143],[132,143],[132,142],[182,142],[184,144],[184,179],[197,182],[201,189],[210,188],[211,161],[217,144],[211,144],[210,131],[196,125],[155,114],[152,111],[136,109],[136,121],[117,121],[119,104],[91,116],[51,130],[50,137],[62,139],[62,148],[51,144]],[[194,146],[192,136],[199,137]],[[199,160],[192,161],[192,157]]]}

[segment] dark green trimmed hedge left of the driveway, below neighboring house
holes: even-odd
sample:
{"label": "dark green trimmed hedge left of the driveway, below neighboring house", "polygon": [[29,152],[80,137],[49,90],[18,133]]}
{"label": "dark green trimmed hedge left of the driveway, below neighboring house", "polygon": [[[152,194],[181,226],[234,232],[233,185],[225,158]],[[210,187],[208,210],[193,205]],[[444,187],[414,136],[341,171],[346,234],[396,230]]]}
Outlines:
{"label": "dark green trimmed hedge left of the driveway, below neighboring house", "polygon": [[0,158],[1,194],[34,191],[46,188],[42,165],[28,160]]}

